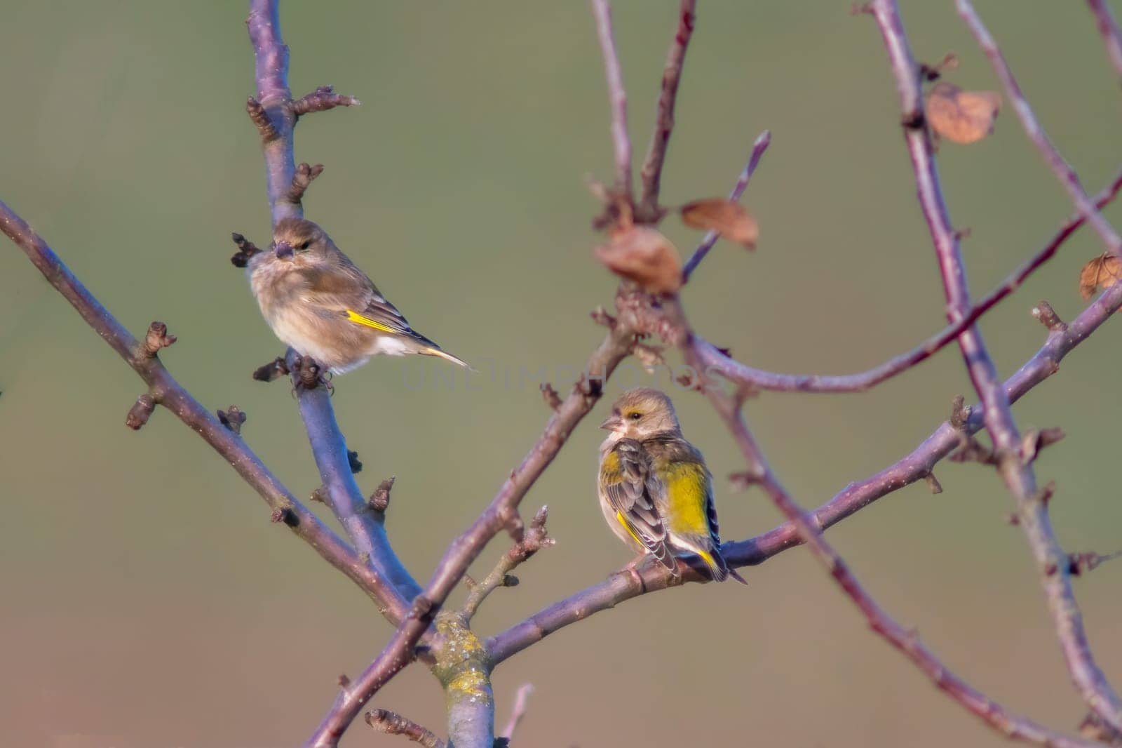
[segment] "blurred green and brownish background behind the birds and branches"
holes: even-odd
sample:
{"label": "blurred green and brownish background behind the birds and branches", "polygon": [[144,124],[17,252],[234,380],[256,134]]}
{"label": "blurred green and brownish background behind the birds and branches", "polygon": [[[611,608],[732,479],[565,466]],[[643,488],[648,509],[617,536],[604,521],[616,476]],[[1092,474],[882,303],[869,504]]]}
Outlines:
{"label": "blurred green and brownish background behind the birds and branches", "polygon": [[[632,135],[645,150],[677,2],[616,2]],[[953,3],[903,3],[916,54],[957,52],[951,80],[995,88]],[[1082,3],[984,0],[1037,113],[1088,190],[1120,161],[1122,95]],[[0,199],[119,319],[165,320],[162,358],[203,403],[237,403],[245,437],[297,494],[318,483],[287,384],[249,373],[280,353],[233,270],[231,230],[268,240],[240,2],[6,0]],[[1122,10],[1116,7],[1115,10]],[[614,280],[591,258],[610,179],[599,48],[585,2],[348,2],[282,8],[300,94],[333,83],[358,109],[297,128],[297,161],[327,172],[305,201],[410,320],[476,362],[376,359],[337,380],[334,404],[367,491],[398,476],[388,527],[425,580],[539,435],[535,374],[559,387],[601,330],[588,311]],[[17,33],[18,31],[18,33]],[[1008,102],[1006,102],[1008,103]],[[774,140],[747,193],[762,238],[718,246],[683,292],[696,326],[744,361],[845,373],[944,323],[941,289],[873,21],[847,2],[703,0],[679,98],[664,199],[724,194],[752,140]],[[941,175],[975,293],[1038,249],[1070,212],[1006,106],[993,137],[947,144]],[[1115,219],[1122,211],[1111,209]],[[699,236],[670,220],[683,255]],[[303,740],[389,626],[342,576],[268,521],[266,505],[201,440],[157,411],[122,425],[138,380],[13,246],[0,250],[0,742],[120,748],[285,746]],[[982,328],[1004,375],[1043,340],[1047,298],[1082,308],[1076,277],[1100,246],[1080,232]],[[1114,469],[1116,325],[1017,407],[1023,428],[1068,438],[1038,462],[1070,550],[1122,546]],[[623,383],[635,383],[632,370]],[[519,384],[519,372],[521,375]],[[454,375],[450,384],[449,376]],[[443,378],[438,378],[443,377]],[[644,380],[650,383],[650,380]],[[665,380],[663,378],[663,382]],[[609,394],[620,383],[609,386]],[[804,505],[909,451],[967,392],[954,348],[853,395],[765,394],[748,414]],[[718,478],[726,539],[773,527],[699,396],[687,436]],[[551,508],[555,548],[477,618],[491,633],[628,560],[594,494],[601,404],[524,503]],[[1011,499],[977,465],[945,465],[945,492],[910,486],[830,530],[876,598],[946,663],[1011,709],[1074,731],[1068,685]],[[506,539],[487,549],[482,573]],[[495,674],[498,719],[537,687],[525,746],[997,746],[871,635],[802,549],[747,569],[751,586],[690,585],[567,628]],[[1091,640],[1122,681],[1122,564],[1077,580]],[[376,700],[442,732],[421,668]],[[357,726],[349,746],[399,745]]]}

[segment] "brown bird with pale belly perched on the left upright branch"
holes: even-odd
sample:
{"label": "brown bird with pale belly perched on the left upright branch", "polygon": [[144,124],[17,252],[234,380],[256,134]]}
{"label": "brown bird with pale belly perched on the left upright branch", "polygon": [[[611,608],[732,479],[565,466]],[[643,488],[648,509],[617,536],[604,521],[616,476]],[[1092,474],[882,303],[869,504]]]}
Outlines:
{"label": "brown bird with pale belly perched on the left upright branch", "polygon": [[276,336],[334,374],[377,354],[439,356],[471,368],[410,327],[397,307],[312,221],[278,221],[269,252],[254,255],[246,272]]}

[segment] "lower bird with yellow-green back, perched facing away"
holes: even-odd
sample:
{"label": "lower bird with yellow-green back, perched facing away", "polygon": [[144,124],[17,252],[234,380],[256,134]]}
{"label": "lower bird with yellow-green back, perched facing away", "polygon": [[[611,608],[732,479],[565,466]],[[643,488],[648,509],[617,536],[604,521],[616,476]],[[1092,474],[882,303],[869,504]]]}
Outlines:
{"label": "lower bird with yellow-green back, perched facing away", "polygon": [[696,555],[715,581],[747,584],[720,555],[712,475],[682,437],[670,398],[651,387],[628,390],[600,428],[611,431],[600,445],[598,484],[611,531],[675,576],[675,557]]}

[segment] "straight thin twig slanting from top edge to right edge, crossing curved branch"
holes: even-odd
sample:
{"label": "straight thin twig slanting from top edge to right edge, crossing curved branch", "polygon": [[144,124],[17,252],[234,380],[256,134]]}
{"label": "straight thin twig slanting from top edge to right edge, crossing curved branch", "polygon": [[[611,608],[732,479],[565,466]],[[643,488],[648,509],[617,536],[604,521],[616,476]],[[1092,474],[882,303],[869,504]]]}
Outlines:
{"label": "straight thin twig slanting from top edge to right edge, crossing curved branch", "polygon": [[1048,163],[1052,173],[1056,174],[1056,179],[1067,190],[1072,202],[1075,203],[1075,209],[1091,222],[1092,228],[1102,238],[1103,244],[1106,245],[1106,250],[1115,257],[1122,258],[1122,237],[1118,235],[1110,222],[1095,208],[1094,202],[1084,191],[1083,183],[1079,182],[1079,175],[1064,159],[1064,156],[1060,155],[1055,144],[1049,139],[1048,134],[1040,126],[1040,121],[1037,120],[1037,116],[1032,112],[1032,107],[1029,106],[1028,100],[1021,92],[1021,86],[1018,85],[1017,79],[1013,77],[1013,71],[1010,70],[1004,55],[1001,54],[997,43],[993,40],[988,29],[986,29],[982,19],[974,11],[974,6],[969,0],[955,0],[955,6],[958,8],[958,15],[966,21],[966,26],[971,29],[974,38],[977,39],[982,52],[990,58],[990,65],[993,66],[994,73],[997,74],[1001,84],[1005,88],[1005,94],[1013,103],[1013,110],[1017,112],[1018,119],[1021,120],[1021,127],[1024,128],[1026,135],[1037,146],[1037,150],[1045,157],[1045,162]]}

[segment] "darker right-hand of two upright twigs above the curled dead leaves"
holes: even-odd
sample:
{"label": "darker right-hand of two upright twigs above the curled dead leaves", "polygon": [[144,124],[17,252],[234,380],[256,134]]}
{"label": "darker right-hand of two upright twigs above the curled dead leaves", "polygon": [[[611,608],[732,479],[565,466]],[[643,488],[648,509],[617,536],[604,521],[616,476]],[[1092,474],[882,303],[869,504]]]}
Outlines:
{"label": "darker right-hand of two upright twigs above the curled dead leaves", "polygon": [[635,218],[641,224],[657,224],[663,210],[659,207],[659,189],[662,181],[662,166],[666,159],[666,146],[670,134],[674,130],[674,101],[678,98],[678,83],[682,80],[682,63],[686,62],[686,48],[693,35],[695,8],[697,0],[681,0],[678,10],[678,29],[666,53],[666,65],[662,71],[662,90],[659,93],[659,104],[654,116],[654,131],[651,134],[651,145],[647,147],[646,159],[640,170],[643,181],[643,197],[635,207]]}

